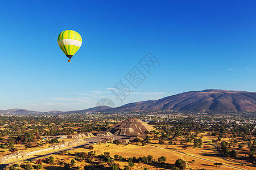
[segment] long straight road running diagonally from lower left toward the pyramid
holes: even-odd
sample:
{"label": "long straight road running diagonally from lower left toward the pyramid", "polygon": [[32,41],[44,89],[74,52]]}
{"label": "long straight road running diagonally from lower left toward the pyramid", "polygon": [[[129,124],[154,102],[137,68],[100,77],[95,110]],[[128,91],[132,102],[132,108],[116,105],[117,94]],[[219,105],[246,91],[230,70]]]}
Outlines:
{"label": "long straight road running diagonally from lower left toward the pyramid", "polygon": [[86,138],[84,139],[84,141],[86,143],[82,143],[80,145],[75,145],[75,146],[71,146],[71,147],[65,147],[65,148],[61,148],[61,149],[58,149],[57,151],[49,151],[47,152],[47,154],[43,154],[43,155],[33,155],[33,156],[28,156],[28,158],[23,158],[23,159],[19,159],[19,160],[13,160],[12,162],[8,162],[8,163],[4,163],[4,164],[0,164],[0,169],[3,169],[5,168],[7,165],[9,164],[14,164],[15,162],[20,162],[20,161],[24,161],[24,160],[29,160],[31,161],[32,159],[35,159],[35,158],[40,158],[40,157],[43,157],[43,156],[48,156],[48,155],[51,155],[51,154],[56,154],[57,152],[60,152],[60,151],[69,151],[69,150],[74,150],[76,148],[80,148],[80,147],[83,147],[83,146],[86,146],[86,145],[89,145],[89,144],[92,144],[94,142],[100,142],[100,141],[104,141],[104,139],[106,138],[114,138],[114,139],[125,139],[126,137],[123,137],[123,136],[119,136],[119,135],[112,135],[112,136],[109,136],[109,137],[92,137],[92,138]]}

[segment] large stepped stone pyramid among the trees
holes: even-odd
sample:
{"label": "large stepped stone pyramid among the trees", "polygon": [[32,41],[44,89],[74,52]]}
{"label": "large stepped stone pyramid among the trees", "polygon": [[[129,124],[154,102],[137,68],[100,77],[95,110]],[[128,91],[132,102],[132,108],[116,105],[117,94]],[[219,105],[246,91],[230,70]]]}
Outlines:
{"label": "large stepped stone pyramid among the trees", "polygon": [[129,118],[117,125],[113,125],[107,131],[110,131],[114,135],[138,136],[146,130],[151,131],[152,129],[154,128],[146,122],[142,122],[137,118]]}

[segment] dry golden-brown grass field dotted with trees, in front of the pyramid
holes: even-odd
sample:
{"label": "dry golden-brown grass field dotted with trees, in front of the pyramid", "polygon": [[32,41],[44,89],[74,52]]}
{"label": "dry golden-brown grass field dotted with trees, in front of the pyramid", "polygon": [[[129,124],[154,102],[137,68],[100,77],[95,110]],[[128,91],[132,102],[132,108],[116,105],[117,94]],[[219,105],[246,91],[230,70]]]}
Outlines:
{"label": "dry golden-brown grass field dotted with trees, in front of the pyramid", "polygon": [[[238,159],[232,158],[223,158],[220,150],[220,142],[218,145],[216,143],[212,143],[213,139],[217,139],[212,135],[208,135],[207,133],[200,133],[197,138],[201,138],[203,141],[203,146],[201,148],[193,147],[193,142],[184,142],[184,138],[179,137],[176,138],[176,145],[169,145],[167,141],[165,141],[164,145],[159,145],[158,140],[151,140],[147,145],[142,146],[141,143],[136,145],[136,143],[130,143],[129,145],[115,145],[113,143],[99,144],[94,145],[93,151],[96,151],[96,155],[104,154],[104,152],[110,152],[110,156],[114,158],[114,155],[121,155],[125,158],[136,156],[137,158],[151,155],[153,159],[158,160],[160,156],[166,156],[167,160],[165,164],[155,163],[155,164],[144,164],[144,163],[135,163],[134,167],[131,169],[144,169],[147,167],[148,169],[171,169],[171,167],[175,164],[177,159],[183,159],[187,162],[188,168],[191,169],[256,169],[253,167],[251,163],[247,162],[249,147],[244,145],[242,149],[238,148],[238,145],[241,143],[241,139],[236,138],[237,142],[232,143],[232,147],[230,150],[235,149],[238,151]],[[222,138],[223,141],[233,141],[231,137],[228,135]],[[180,144],[182,143],[182,145]],[[187,148],[182,148],[184,145]],[[36,148],[35,148],[36,149]],[[32,149],[31,149],[32,150]],[[86,148],[77,148],[75,150],[71,150],[71,154],[75,152],[89,152],[92,150]],[[49,155],[50,156],[50,155]],[[75,159],[75,156],[71,155],[52,155],[55,158],[55,163],[63,162],[63,163],[71,163],[72,159]],[[195,161],[192,161],[195,160]],[[92,165],[92,163],[86,163],[85,161],[78,162],[76,160],[76,164],[73,168],[80,167],[83,168],[85,165]],[[127,162],[118,162],[115,160],[115,163],[118,163],[120,167],[123,169],[125,165],[128,165]],[[216,167],[214,163],[222,163],[221,167]],[[105,163],[106,164],[106,163]],[[56,169],[56,167],[60,167],[59,164],[51,165],[44,164],[43,166],[46,169]],[[64,165],[62,165],[63,167]]]}

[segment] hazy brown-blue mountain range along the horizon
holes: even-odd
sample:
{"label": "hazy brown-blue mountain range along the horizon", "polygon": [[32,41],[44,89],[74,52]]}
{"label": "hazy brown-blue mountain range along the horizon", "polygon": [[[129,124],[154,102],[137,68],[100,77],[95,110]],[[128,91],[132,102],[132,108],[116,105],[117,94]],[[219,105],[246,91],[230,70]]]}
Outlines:
{"label": "hazy brown-blue mountain range along the horizon", "polygon": [[158,100],[139,101],[111,108],[105,105],[80,111],[35,112],[25,109],[2,110],[2,114],[57,114],[85,112],[141,112],[141,111],[179,111],[179,112],[256,112],[256,93],[230,90],[189,91]]}

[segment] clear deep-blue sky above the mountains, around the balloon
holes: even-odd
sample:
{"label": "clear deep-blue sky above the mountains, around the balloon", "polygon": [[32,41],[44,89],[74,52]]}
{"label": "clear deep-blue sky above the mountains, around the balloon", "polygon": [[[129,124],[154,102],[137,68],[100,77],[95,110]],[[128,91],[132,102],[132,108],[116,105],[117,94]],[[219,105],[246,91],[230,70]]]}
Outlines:
{"label": "clear deep-blue sky above the mountains, around the balloon", "polygon": [[[0,109],[71,111],[208,88],[256,91],[256,1],[1,1]],[[72,29],[68,63],[57,45]],[[151,74],[139,61],[151,52]],[[136,66],[146,79],[134,88]],[[121,80],[131,92],[116,99]],[[115,89],[117,90],[117,89]]]}

